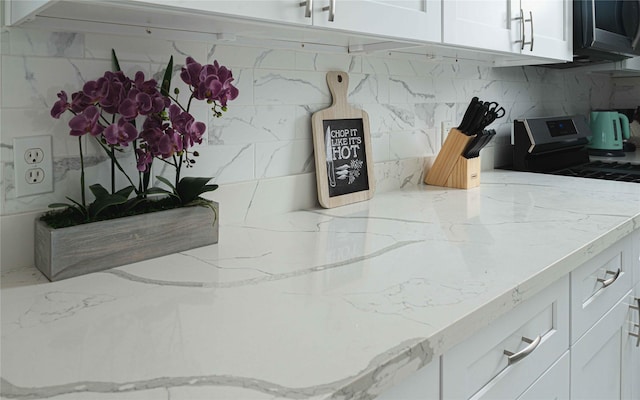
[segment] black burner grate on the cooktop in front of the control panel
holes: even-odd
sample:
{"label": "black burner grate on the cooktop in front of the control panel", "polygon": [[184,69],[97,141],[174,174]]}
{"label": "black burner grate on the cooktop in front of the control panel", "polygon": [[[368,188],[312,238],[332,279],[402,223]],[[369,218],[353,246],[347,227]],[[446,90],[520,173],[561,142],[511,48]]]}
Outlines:
{"label": "black burner grate on the cooktop in front of the control panel", "polygon": [[616,161],[592,161],[586,164],[553,171],[551,174],[640,183],[640,164]]}

